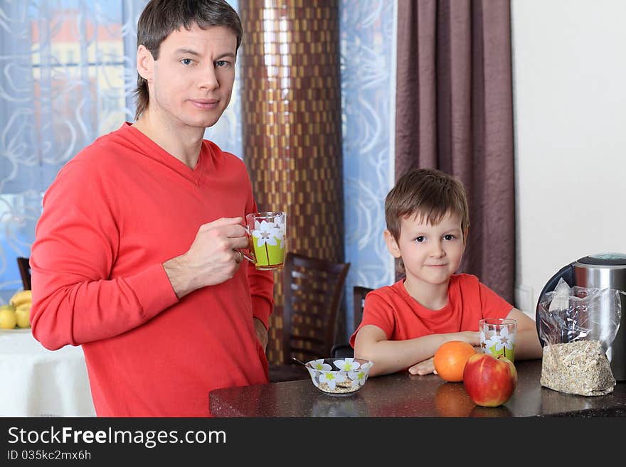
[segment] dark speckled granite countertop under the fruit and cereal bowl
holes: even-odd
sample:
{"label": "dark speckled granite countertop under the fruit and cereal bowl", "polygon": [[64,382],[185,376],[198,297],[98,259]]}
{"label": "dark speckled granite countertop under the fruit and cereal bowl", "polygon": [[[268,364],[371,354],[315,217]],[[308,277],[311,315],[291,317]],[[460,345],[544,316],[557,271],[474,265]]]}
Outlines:
{"label": "dark speckled granite countertop under the fruit and cereal bowl", "polygon": [[[329,395],[310,379],[231,387],[209,395],[216,417],[625,417],[626,382],[585,397],[541,387],[541,360],[515,363],[518,381],[500,407],[474,405],[462,382],[408,373],[371,377],[356,394]],[[304,369],[303,369],[304,371]]]}

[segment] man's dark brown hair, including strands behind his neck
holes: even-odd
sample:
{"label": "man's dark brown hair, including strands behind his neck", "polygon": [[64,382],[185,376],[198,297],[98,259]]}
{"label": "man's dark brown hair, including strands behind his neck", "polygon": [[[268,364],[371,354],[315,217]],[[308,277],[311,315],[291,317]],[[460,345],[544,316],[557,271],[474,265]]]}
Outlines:
{"label": "man's dark brown hair, including strands behind his neck", "polygon": [[[159,47],[173,31],[179,28],[187,30],[197,24],[206,29],[211,26],[226,26],[237,36],[237,48],[241,44],[243,29],[237,11],[225,0],[150,0],[137,23],[137,47],[144,45],[154,60],[159,58]],[[137,111],[139,119],[148,108],[150,95],[148,82],[137,75]]]}

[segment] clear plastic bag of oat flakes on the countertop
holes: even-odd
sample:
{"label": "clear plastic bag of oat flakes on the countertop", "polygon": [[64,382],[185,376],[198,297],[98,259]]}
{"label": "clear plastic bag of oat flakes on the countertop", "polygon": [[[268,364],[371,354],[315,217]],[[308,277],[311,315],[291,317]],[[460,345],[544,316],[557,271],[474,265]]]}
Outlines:
{"label": "clear plastic bag of oat flakes on the countertop", "polygon": [[606,350],[620,327],[622,304],[615,289],[570,287],[561,279],[539,303],[543,340],[541,385],[559,392],[600,396],[615,387]]}

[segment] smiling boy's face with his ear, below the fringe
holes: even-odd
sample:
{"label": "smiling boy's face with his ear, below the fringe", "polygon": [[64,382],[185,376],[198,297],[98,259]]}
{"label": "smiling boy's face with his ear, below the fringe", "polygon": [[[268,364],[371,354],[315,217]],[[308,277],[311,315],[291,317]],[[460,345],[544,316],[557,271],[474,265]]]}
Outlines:
{"label": "smiling boy's face with his ear, below the fringe", "polygon": [[447,282],[458,269],[465,235],[460,216],[448,213],[437,225],[429,224],[421,215],[402,218],[398,241],[388,230],[385,240],[391,254],[402,257],[407,281],[435,285]]}

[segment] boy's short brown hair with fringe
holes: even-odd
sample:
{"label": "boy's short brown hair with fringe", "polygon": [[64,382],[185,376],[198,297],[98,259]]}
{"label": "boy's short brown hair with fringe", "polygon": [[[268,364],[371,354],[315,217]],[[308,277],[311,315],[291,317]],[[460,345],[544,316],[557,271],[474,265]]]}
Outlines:
{"label": "boy's short brown hair with fringe", "polygon": [[385,198],[387,230],[396,242],[400,238],[402,218],[422,215],[426,222],[437,224],[447,213],[460,216],[465,235],[470,225],[465,187],[458,178],[434,168],[405,173]]}

